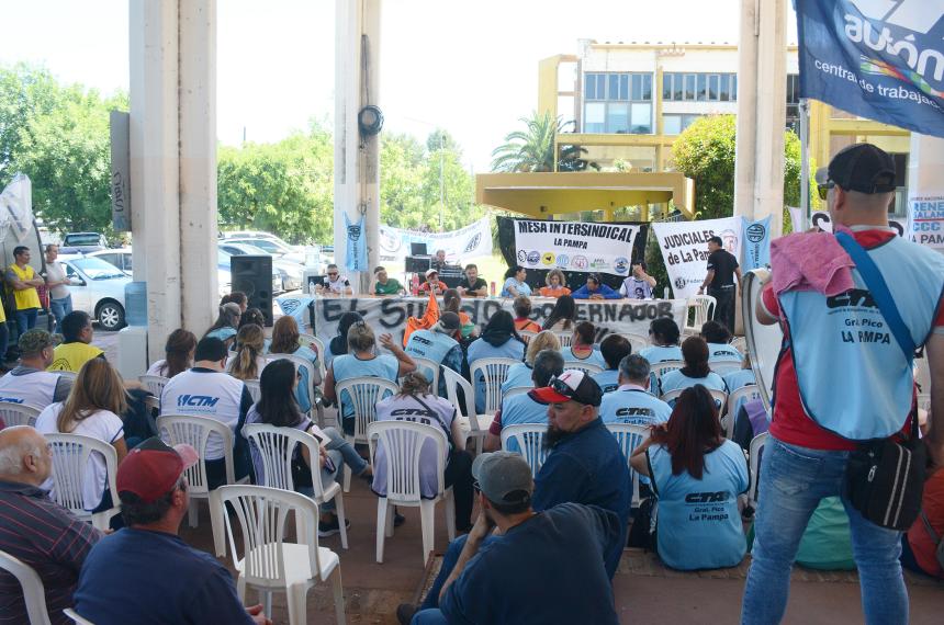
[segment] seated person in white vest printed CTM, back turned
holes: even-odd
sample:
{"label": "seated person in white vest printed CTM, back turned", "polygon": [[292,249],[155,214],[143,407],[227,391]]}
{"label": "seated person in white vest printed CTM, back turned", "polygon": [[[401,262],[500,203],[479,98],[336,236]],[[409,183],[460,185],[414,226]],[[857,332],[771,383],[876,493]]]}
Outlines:
{"label": "seated person in white vest printed CTM, back turned", "polygon": [[[193,357],[193,367],[177,374],[164,387],[160,413],[204,417],[225,423],[233,431],[235,477],[243,479],[249,475],[249,450],[245,439],[238,434],[252,406],[252,396],[241,379],[226,373],[226,348],[220,339],[201,339]],[[218,434],[210,434],[204,454],[210,488],[223,486],[226,484],[226,462],[223,439]]]}

